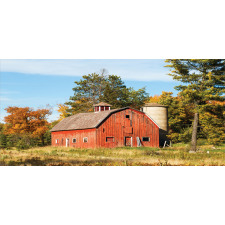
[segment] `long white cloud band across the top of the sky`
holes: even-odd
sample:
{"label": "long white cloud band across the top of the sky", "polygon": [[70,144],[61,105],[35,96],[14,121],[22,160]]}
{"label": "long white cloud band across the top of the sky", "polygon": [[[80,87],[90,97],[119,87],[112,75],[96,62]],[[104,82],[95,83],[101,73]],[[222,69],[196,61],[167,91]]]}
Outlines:
{"label": "long white cloud band across the top of the sky", "polygon": [[1,60],[1,70],[40,75],[82,76],[106,68],[124,80],[172,81],[159,60]]}

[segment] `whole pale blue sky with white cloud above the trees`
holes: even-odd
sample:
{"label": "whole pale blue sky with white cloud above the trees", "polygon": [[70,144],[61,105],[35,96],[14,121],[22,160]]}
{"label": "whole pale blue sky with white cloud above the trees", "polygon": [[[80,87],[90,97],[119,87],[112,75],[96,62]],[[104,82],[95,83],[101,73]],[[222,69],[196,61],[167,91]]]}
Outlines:
{"label": "whole pale blue sky with white cloud above the trees", "polygon": [[152,95],[171,91],[178,83],[168,76],[163,59],[19,59],[0,60],[0,122],[8,106],[34,109],[52,107],[49,121],[58,119],[57,104],[73,95],[74,81],[83,75],[98,73],[120,76],[127,87],[146,87]]}

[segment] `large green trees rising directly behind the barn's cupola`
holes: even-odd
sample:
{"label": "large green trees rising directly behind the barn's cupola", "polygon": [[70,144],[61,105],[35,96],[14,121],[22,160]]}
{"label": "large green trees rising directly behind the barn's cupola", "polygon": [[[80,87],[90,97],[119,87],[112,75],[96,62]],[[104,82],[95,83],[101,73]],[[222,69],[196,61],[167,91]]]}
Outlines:
{"label": "large green trees rising directly behind the barn's cupola", "polygon": [[65,105],[69,106],[66,112],[71,114],[92,112],[93,105],[104,101],[112,108],[131,106],[140,108],[148,98],[145,88],[134,90],[127,88],[122,79],[116,75],[100,75],[92,73],[84,75],[80,81],[75,81],[74,95]]}

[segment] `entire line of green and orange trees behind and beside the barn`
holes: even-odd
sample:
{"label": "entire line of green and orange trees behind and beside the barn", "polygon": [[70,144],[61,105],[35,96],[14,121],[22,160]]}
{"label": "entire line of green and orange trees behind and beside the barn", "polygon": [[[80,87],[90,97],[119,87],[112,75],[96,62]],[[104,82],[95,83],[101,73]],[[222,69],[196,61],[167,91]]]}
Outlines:
{"label": "entire line of green and orange trees behind and beside the barn", "polygon": [[27,148],[51,143],[50,129],[63,118],[81,112],[92,112],[93,104],[104,101],[112,108],[130,106],[140,109],[147,102],[168,106],[169,134],[173,142],[190,142],[196,151],[197,139],[210,144],[225,140],[225,60],[223,59],[169,59],[169,75],[180,81],[178,95],[162,92],[149,96],[146,88],[127,87],[120,76],[92,73],[75,81],[74,95],[58,105],[60,118],[49,123],[49,109],[8,107],[5,124],[0,126],[0,147]]}

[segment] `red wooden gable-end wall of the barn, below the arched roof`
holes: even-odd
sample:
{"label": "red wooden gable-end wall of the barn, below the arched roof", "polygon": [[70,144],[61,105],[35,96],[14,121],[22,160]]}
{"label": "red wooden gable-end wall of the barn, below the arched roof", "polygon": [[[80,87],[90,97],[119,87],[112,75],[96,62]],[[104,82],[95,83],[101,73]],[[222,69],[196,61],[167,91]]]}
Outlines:
{"label": "red wooden gable-end wall of the barn, below the arched roof", "polygon": [[[129,116],[129,118],[126,118]],[[97,147],[125,146],[125,137],[132,138],[132,146],[137,146],[137,137],[142,146],[159,147],[159,128],[144,113],[126,109],[112,114],[98,128],[96,134]],[[106,142],[106,137],[114,137],[114,142]],[[143,142],[143,137],[149,137],[149,142]],[[129,138],[127,138],[129,141]]]}

